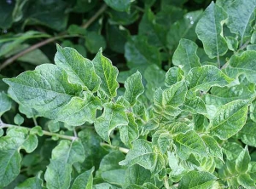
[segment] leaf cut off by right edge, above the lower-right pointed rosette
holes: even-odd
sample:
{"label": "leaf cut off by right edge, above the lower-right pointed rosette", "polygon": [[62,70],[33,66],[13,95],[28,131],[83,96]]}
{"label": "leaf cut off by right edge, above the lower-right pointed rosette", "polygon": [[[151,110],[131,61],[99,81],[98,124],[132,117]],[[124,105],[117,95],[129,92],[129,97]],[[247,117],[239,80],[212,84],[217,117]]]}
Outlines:
{"label": "leaf cut off by right edge, above the lower-right pointed rosette", "polygon": [[248,145],[256,147],[256,125],[252,120],[248,120],[241,131],[238,133],[241,141]]}

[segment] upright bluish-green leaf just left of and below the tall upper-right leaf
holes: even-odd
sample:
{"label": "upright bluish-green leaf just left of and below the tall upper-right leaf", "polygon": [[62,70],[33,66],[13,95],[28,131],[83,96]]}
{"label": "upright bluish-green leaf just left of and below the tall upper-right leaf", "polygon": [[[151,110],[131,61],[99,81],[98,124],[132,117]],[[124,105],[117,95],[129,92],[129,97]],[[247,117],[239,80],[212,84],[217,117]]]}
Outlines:
{"label": "upright bluish-green leaf just left of and below the tall upper-right leaf", "polygon": [[196,54],[197,49],[196,43],[182,38],[172,56],[173,65],[181,66],[185,73],[188,73],[193,67],[201,66]]}

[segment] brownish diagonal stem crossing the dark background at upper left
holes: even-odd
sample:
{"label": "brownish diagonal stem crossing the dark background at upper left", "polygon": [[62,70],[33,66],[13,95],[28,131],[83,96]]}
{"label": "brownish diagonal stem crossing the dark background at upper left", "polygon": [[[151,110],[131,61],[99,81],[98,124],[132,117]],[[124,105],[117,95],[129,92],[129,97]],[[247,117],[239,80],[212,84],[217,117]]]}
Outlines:
{"label": "brownish diagonal stem crossing the dark background at upper left", "polygon": [[[99,9],[96,14],[94,14],[90,20],[88,20],[82,27],[84,29],[88,28],[91,23],[93,23],[106,9],[108,8],[108,6],[106,4],[102,5],[102,8]],[[55,37],[51,37],[51,38],[48,38],[42,42],[39,42],[39,43],[36,43],[32,46],[30,46],[29,48],[25,49],[25,50],[22,50],[20,53],[18,54],[15,54],[14,56],[10,57],[8,60],[5,60],[3,62],[3,64],[0,66],[0,72],[1,70],[3,70],[3,68],[5,68],[6,66],[9,66],[10,64],[12,64],[15,60],[19,59],[21,56],[25,55],[25,54],[28,54],[30,52],[32,52],[33,50],[35,49],[38,49],[42,46],[44,46],[45,44],[48,44],[48,43],[52,43],[54,42],[55,40],[57,39],[60,39],[60,38],[64,38],[64,37],[78,37],[78,35],[73,35],[73,36],[68,36],[67,35],[67,32],[64,31],[62,32],[61,34],[59,34],[58,36],[55,36]]]}

